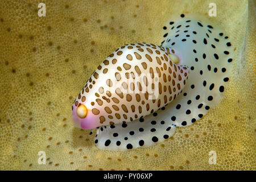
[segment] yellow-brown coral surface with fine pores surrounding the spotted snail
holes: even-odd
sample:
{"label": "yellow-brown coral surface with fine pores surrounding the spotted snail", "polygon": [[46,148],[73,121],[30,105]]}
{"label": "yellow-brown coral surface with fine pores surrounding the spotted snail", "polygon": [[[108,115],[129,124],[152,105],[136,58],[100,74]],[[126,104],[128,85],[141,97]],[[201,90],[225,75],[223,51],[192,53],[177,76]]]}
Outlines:
{"label": "yellow-brown coral surface with fine pores surrounding the spotted snail", "polygon": [[[38,4],[46,3],[46,16]],[[1,170],[255,170],[255,2],[2,1],[0,4]],[[166,142],[103,151],[73,126],[71,107],[85,81],[117,47],[160,44],[172,15],[208,16],[234,47],[222,101]],[[46,164],[38,164],[38,152]],[[209,152],[217,162],[210,165]]]}

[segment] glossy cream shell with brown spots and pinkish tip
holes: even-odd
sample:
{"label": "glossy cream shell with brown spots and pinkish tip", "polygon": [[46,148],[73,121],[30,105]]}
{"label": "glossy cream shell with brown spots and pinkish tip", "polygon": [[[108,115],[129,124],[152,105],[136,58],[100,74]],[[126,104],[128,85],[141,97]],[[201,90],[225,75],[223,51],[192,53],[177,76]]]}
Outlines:
{"label": "glossy cream shell with brown spots and pinkish tip", "polygon": [[[73,117],[77,125],[93,129],[134,121],[175,100],[185,86],[188,69],[174,64],[168,56],[170,51],[135,43],[111,53],[75,100]],[[86,117],[77,114],[85,107]]]}

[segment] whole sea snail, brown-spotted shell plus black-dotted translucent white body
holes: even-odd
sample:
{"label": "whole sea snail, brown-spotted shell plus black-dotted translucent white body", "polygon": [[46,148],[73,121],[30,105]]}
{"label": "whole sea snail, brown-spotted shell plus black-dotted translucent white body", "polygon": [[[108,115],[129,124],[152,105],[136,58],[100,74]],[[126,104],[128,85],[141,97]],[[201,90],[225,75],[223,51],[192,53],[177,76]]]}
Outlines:
{"label": "whole sea snail, brown-spotted shell plus black-dotted translucent white body", "polygon": [[229,38],[207,21],[180,17],[163,27],[161,46],[119,47],[82,88],[72,118],[81,129],[97,129],[98,148],[152,146],[221,100],[232,71]]}

